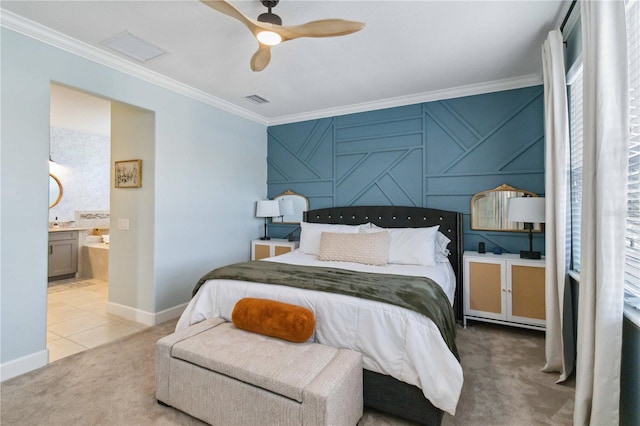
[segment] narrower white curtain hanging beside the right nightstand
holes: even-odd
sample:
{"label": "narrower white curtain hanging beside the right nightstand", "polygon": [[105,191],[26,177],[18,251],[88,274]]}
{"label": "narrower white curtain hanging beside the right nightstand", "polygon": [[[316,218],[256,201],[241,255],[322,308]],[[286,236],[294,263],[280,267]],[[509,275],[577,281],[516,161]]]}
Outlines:
{"label": "narrower white curtain hanging beside the right nightstand", "polygon": [[542,45],[545,137],[546,364],[559,382],[573,371],[573,310],[568,282],[567,205],[569,114],[562,33],[551,31]]}

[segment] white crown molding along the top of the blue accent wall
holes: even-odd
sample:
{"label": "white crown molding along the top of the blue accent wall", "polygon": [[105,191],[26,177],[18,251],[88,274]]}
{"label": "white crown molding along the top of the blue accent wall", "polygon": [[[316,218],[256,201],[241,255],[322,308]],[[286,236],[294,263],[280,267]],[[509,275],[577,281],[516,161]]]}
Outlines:
{"label": "white crown molding along the top of the blue accent wall", "polygon": [[463,96],[481,95],[484,93],[501,92],[503,90],[521,89],[523,87],[537,86],[540,84],[542,84],[541,75],[529,74],[522,77],[495,80],[479,84],[470,84],[466,86],[452,87],[449,89],[416,93],[409,96],[400,96],[373,102],[364,102],[340,108],[328,108],[325,110],[317,110],[308,113],[277,117],[269,120],[269,125],[274,126],[278,124],[296,123],[299,121],[316,120],[319,118],[335,117],[339,115],[374,111],[385,108],[414,105],[423,102],[433,102],[443,99],[460,98]]}

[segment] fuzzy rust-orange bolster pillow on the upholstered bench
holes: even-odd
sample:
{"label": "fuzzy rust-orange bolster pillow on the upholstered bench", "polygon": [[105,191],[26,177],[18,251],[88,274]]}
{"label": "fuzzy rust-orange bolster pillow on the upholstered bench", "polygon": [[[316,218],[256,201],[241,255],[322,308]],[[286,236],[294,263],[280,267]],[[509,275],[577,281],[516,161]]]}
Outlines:
{"label": "fuzzy rust-orange bolster pillow on the upholstered bench", "polygon": [[238,300],[231,321],[243,330],[296,343],[309,340],[316,326],[313,312],[307,308],[250,297]]}

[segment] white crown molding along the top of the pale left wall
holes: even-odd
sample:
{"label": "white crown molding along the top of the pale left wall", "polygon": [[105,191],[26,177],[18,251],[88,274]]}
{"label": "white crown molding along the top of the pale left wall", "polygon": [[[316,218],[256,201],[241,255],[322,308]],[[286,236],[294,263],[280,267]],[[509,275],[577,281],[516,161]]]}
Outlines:
{"label": "white crown molding along the top of the pale left wall", "polygon": [[259,124],[269,124],[269,120],[262,115],[240,108],[202,90],[124,60],[3,8],[0,8],[0,26],[231,114]]}

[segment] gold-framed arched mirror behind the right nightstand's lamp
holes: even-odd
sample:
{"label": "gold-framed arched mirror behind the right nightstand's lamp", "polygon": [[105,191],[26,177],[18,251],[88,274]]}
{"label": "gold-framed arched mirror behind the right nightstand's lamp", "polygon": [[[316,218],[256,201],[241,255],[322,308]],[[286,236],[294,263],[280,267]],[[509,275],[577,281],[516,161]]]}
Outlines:
{"label": "gold-framed arched mirror behind the right nightstand's lamp", "polygon": [[[511,197],[537,197],[538,195],[513,188],[507,184],[488,191],[482,191],[471,198],[471,229],[485,231],[526,231],[521,222],[509,222],[507,204]],[[542,225],[534,224],[533,232],[542,232]]]}

